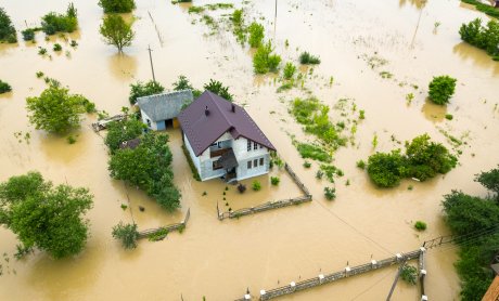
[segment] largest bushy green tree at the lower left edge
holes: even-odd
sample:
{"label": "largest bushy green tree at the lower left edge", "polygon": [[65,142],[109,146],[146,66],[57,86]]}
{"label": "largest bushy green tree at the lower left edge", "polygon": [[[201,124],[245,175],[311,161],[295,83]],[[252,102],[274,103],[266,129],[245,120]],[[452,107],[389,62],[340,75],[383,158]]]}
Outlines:
{"label": "largest bushy green tree at the lower left edge", "polygon": [[0,224],[17,235],[23,248],[64,258],[84,249],[89,222],[81,215],[92,202],[87,188],[54,187],[39,172],[29,172],[0,184]]}

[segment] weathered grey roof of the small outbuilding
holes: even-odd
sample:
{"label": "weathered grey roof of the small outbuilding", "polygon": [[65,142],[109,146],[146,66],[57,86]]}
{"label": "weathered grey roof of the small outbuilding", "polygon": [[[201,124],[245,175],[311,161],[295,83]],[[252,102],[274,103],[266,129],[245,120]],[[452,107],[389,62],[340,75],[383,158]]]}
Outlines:
{"label": "weathered grey roof of the small outbuilding", "polygon": [[137,99],[137,104],[152,121],[168,120],[177,117],[184,104],[192,102],[191,90],[154,94]]}

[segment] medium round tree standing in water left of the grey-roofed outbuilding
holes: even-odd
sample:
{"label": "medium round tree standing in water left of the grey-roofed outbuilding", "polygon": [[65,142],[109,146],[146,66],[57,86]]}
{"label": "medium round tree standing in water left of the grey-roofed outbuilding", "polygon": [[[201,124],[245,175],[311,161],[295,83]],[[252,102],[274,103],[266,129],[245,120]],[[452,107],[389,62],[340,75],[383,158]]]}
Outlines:
{"label": "medium round tree standing in water left of the grey-roofed outbuilding", "polygon": [[29,121],[36,129],[53,133],[65,133],[78,128],[80,115],[86,112],[89,101],[79,94],[69,94],[69,90],[51,84],[38,97],[27,97],[26,108]]}

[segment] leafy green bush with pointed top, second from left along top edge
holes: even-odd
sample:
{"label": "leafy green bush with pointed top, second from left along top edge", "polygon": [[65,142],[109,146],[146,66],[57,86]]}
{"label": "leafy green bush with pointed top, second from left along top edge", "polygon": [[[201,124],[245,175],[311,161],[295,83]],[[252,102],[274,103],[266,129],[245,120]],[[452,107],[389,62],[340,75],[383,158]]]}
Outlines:
{"label": "leafy green bush with pointed top, second from left along top edge", "polygon": [[78,27],[77,12],[73,3],[69,3],[66,14],[50,12],[41,17],[41,30],[47,35],[55,32],[73,32]]}

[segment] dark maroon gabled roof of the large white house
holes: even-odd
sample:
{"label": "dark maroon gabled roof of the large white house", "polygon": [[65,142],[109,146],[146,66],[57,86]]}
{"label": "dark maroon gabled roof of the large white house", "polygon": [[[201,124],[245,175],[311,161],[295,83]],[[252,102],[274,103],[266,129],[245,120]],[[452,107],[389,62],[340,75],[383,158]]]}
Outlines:
{"label": "dark maroon gabled roof of the large white house", "polygon": [[180,127],[196,156],[229,132],[276,150],[246,110],[210,91],[205,91],[178,116]]}

